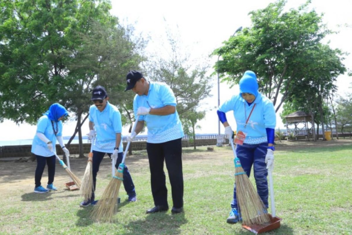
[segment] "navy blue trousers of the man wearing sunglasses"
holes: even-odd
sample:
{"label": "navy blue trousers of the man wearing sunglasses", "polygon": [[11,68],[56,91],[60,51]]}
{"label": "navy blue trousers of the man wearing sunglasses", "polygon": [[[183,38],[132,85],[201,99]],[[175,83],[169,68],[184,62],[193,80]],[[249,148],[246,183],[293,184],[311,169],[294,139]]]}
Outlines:
{"label": "navy blue trousers of the man wearing sunglasses", "polygon": [[[93,185],[94,185],[94,188],[93,188],[92,199],[94,199],[94,191],[95,191],[95,185],[96,185],[96,175],[97,175],[97,173],[99,171],[100,163],[103,160],[103,157],[104,157],[105,154],[106,153],[102,153],[102,152],[98,152],[98,151],[93,150]],[[111,153],[107,153],[107,155],[110,157]],[[116,160],[116,165],[115,165],[116,168],[119,167],[119,165],[120,165],[120,163],[122,161],[122,158],[123,158],[123,154],[119,153],[118,157],[117,157],[117,160]],[[124,180],[122,181],[122,183],[124,184],[124,187],[125,187],[125,190],[126,190],[127,194],[129,196],[136,195],[136,190],[134,188],[132,177],[131,177],[131,174],[128,171],[128,168],[127,168],[126,165],[125,165],[125,168],[124,168],[123,179]]]}

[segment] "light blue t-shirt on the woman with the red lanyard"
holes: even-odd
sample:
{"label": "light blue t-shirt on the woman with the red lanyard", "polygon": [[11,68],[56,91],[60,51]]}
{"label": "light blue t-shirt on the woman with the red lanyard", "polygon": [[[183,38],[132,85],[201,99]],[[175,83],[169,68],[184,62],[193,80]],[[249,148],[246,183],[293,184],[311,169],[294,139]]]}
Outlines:
{"label": "light blue t-shirt on the woman with the red lanyard", "polygon": [[[244,128],[246,119],[249,117],[254,104],[256,106],[253,109],[246,128]],[[224,113],[231,110],[233,110],[236,120],[237,132],[241,130],[247,133],[244,143],[259,144],[268,141],[265,128],[275,129],[276,113],[274,105],[267,97],[258,93],[256,99],[249,106],[240,94],[234,95],[219,107],[219,111]]]}

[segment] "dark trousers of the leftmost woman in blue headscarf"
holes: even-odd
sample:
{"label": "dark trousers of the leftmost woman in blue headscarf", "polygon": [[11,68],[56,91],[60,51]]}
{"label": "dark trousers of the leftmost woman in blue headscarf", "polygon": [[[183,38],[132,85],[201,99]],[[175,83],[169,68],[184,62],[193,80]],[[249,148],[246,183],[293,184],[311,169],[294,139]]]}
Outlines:
{"label": "dark trousers of the leftmost woman in blue headscarf", "polygon": [[42,185],[40,181],[42,180],[45,164],[48,165],[48,184],[52,184],[54,182],[54,176],[55,176],[55,161],[56,161],[55,155],[51,157],[43,157],[43,156],[36,155],[36,159],[37,159],[37,168],[34,176],[36,187],[39,187],[40,185]]}

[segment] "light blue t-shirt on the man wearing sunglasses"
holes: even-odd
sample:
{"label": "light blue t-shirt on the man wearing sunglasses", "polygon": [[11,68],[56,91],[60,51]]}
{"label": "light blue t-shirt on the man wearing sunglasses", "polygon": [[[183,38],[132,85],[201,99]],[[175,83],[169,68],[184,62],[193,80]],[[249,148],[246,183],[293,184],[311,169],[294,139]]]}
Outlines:
{"label": "light blue t-shirt on the man wearing sunglasses", "polygon": [[[122,122],[118,108],[107,102],[105,109],[100,112],[95,105],[89,108],[89,120],[94,123],[96,140],[93,150],[102,153],[113,153],[116,144],[116,133],[121,133]],[[119,153],[123,151],[122,135]]]}

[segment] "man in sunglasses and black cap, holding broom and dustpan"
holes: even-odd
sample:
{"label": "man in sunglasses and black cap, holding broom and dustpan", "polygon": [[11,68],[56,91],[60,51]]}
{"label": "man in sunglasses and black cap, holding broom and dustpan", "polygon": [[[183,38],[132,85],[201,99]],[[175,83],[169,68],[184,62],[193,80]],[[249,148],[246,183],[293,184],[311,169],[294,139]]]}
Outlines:
{"label": "man in sunglasses and black cap, holding broom and dustpan", "polygon": [[[117,159],[115,167],[118,168],[122,161],[122,141],[121,141],[121,114],[118,108],[109,103],[109,97],[104,87],[96,86],[93,89],[93,105],[89,108],[89,140],[93,140],[93,193],[87,201],[81,202],[80,206],[85,207],[96,204],[94,190],[96,185],[96,175],[105,154]],[[122,181],[128,195],[128,202],[136,202],[137,195],[130,172],[125,165],[124,180]]]}

